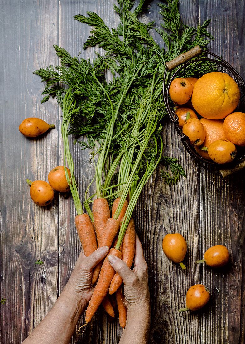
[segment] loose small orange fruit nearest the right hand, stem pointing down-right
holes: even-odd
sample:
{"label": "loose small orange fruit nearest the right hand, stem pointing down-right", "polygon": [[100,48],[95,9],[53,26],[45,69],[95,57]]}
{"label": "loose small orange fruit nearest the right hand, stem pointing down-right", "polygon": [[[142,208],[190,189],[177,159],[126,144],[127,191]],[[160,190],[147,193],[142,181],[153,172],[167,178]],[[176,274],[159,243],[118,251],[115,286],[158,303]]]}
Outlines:
{"label": "loose small orange fruit nearest the right hand, stem pointing down-right", "polygon": [[182,269],[186,269],[182,260],[186,255],[187,244],[185,238],[180,233],[165,235],[162,240],[162,249],[169,259],[179,263]]}

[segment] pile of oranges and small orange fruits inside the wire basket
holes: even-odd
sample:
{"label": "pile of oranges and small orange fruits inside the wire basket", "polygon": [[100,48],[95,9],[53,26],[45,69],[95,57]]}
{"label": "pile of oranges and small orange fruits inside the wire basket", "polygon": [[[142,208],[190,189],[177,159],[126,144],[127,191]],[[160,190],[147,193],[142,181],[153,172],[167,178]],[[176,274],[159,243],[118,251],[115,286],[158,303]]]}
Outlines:
{"label": "pile of oranges and small orange fruits inside the wire basket", "polygon": [[245,146],[245,113],[235,111],[240,89],[222,72],[176,78],[169,87],[179,127],[197,153],[218,164],[234,160],[236,146]]}

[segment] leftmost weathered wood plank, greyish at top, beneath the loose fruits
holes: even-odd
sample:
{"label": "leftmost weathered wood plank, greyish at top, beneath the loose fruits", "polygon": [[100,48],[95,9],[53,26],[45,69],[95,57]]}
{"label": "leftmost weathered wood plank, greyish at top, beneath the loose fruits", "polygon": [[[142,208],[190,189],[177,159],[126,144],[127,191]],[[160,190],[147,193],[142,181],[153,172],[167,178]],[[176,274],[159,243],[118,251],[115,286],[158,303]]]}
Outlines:
{"label": "leftmost weathered wood plank, greyish at top, beneath the loose fruits", "polygon": [[[50,14],[57,18],[58,8],[46,0],[5,1],[1,7],[0,295],[7,301],[1,305],[0,332],[2,343],[20,343],[57,298],[57,201],[46,209],[36,206],[25,179],[47,180],[46,162],[56,160],[58,132],[31,140],[18,127],[26,117],[56,122],[54,101],[40,105],[40,81],[32,71],[57,61],[45,51],[57,36]],[[37,259],[44,265],[34,269]]]}

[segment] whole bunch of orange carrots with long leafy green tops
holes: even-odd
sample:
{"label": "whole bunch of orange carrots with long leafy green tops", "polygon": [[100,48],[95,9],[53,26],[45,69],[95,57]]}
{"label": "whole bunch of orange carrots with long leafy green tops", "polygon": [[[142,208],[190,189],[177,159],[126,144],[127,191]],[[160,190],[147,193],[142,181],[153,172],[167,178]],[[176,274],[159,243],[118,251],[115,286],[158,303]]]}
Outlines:
{"label": "whole bunch of orange carrots with long leafy green tops", "polygon": [[[166,114],[162,97],[163,66],[183,49],[208,43],[203,37],[208,34],[208,22],[197,29],[189,28],[180,20],[177,0],[167,0],[167,5],[159,5],[165,26],[157,32],[168,49],[160,48],[149,34],[153,23],[138,20],[146,3],[140,0],[132,10],[133,1],[118,0],[114,9],[121,23],[112,31],[96,13],[75,16],[76,20],[94,26],[84,48],[99,45],[105,49],[106,56],[97,55],[91,64],[54,46],[61,65],[35,72],[46,82],[43,94],[47,95],[42,101],[47,101],[50,95],[56,96],[62,108],[64,166],[68,166],[71,175],[64,171],[77,211],[75,226],[84,254],[89,256],[105,245],[110,248],[107,257],[93,271],[91,284],[95,289],[86,310],[86,324],[101,303],[114,316],[109,292],[115,293],[120,325],[125,327],[122,279],[109,264],[108,256],[122,259],[131,268],[135,253],[132,214],[136,202],[160,160],[170,163],[162,157],[162,118]],[[107,70],[113,75],[109,83],[105,79]],[[119,76],[115,77],[116,74]],[[87,143],[80,144],[93,151],[95,175],[85,193],[87,214],[83,212],[75,180],[70,133],[86,133]],[[175,163],[171,167],[173,173],[174,169],[180,171],[181,166]],[[184,175],[183,169],[178,178],[181,174]],[[96,193],[88,197],[94,181]],[[90,203],[93,203],[92,210]]]}

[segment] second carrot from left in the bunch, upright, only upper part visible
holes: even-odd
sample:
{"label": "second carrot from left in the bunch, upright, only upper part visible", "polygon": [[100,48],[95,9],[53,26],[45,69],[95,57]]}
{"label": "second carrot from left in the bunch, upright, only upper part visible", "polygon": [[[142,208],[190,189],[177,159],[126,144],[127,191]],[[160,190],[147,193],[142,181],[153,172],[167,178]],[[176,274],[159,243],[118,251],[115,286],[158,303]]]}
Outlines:
{"label": "second carrot from left in the bunch, upright, only upper part visible", "polygon": [[110,218],[110,208],[106,198],[96,198],[93,202],[93,215],[98,245],[105,225]]}

